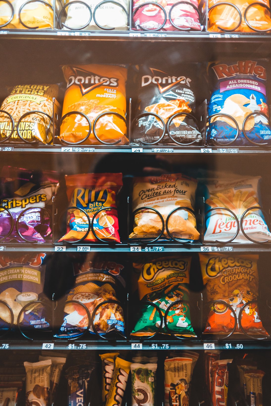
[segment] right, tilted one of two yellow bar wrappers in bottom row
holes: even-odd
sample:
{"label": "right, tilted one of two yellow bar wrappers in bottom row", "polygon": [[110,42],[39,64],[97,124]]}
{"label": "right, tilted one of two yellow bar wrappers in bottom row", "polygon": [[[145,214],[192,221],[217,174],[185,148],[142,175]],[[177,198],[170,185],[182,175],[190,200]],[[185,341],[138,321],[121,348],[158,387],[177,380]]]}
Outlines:
{"label": "right, tilted one of two yellow bar wrappers in bottom row", "polygon": [[125,361],[120,357],[115,359],[115,370],[105,406],[121,406],[131,364],[131,362]]}

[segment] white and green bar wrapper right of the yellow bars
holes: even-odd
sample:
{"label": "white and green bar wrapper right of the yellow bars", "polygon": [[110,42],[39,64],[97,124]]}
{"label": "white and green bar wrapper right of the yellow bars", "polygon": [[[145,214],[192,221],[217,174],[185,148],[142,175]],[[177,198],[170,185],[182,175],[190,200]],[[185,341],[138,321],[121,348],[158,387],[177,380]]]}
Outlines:
{"label": "white and green bar wrapper right of the yellow bars", "polygon": [[131,365],[132,401],[131,406],[153,406],[155,403],[157,364]]}

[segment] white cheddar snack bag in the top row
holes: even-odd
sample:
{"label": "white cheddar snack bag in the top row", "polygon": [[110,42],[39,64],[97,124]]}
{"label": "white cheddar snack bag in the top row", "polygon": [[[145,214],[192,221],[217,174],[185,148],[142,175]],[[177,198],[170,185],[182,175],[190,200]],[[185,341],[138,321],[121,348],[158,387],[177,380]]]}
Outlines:
{"label": "white cheddar snack bag in the top row", "polygon": [[[69,1],[67,2],[69,3]],[[100,0],[86,0],[93,13],[95,6],[100,3]],[[124,9],[129,14],[129,1],[128,0],[117,0],[117,3],[121,4]],[[66,26],[77,29],[85,26],[89,21],[89,9],[83,4],[70,4],[67,7],[67,19],[65,21]],[[125,11],[117,4],[108,2],[99,6],[95,11],[95,18],[102,27],[104,28],[115,28],[117,31],[128,30],[128,21]],[[66,30],[67,28],[63,28]],[[92,17],[91,22],[82,30],[101,30],[98,27]]]}

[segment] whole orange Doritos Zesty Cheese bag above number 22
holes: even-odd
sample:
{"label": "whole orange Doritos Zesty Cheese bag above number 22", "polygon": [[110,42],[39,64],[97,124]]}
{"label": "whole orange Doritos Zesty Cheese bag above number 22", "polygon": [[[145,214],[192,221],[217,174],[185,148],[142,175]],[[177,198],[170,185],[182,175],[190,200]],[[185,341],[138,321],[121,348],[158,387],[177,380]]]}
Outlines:
{"label": "whole orange Doritos Zesty Cheese bag above number 22", "polygon": [[[69,112],[75,113],[63,120],[60,139],[68,143],[84,140],[89,132],[89,123],[81,114],[76,114],[81,112],[91,121],[91,134],[85,142],[99,145],[93,135],[93,124],[100,114],[114,112],[125,120],[127,69],[119,65],[65,65],[62,70],[67,82],[62,117]],[[118,145],[128,143],[123,119],[116,114],[102,116],[95,125],[97,136],[106,143],[119,140]]]}

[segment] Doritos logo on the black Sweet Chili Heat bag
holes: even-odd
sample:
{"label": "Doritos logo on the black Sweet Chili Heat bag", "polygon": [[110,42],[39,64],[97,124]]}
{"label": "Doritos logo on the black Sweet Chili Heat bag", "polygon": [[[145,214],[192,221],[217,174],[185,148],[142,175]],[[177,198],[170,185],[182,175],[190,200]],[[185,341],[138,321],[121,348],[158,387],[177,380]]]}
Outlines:
{"label": "Doritos logo on the black Sweet Chili Heat bag", "polygon": [[168,76],[166,72],[159,71],[158,69],[150,68],[152,75],[144,75],[141,78],[141,87],[147,86],[150,83],[157,84],[160,93],[164,93],[176,84],[185,84],[190,87],[191,79],[185,76]]}

